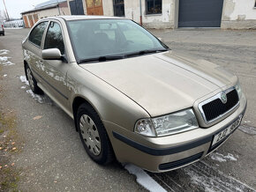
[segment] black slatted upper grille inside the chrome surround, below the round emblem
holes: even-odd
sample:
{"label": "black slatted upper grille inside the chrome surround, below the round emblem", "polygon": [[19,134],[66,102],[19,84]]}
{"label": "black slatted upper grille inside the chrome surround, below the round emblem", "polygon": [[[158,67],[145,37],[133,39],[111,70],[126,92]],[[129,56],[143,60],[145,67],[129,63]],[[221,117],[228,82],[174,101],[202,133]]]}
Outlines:
{"label": "black slatted upper grille inside the chrome surround, below the round emblem", "polygon": [[226,95],[227,102],[225,104],[222,103],[220,98],[217,98],[202,106],[202,110],[205,114],[207,122],[210,122],[220,115],[227,113],[231,108],[237,105],[239,98],[236,89],[226,93]]}

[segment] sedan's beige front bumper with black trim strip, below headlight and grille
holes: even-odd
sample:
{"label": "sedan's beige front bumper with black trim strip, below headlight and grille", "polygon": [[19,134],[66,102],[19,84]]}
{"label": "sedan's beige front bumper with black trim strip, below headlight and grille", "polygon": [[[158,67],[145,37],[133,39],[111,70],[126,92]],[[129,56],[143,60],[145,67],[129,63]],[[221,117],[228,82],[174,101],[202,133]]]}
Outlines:
{"label": "sedan's beige front bumper with black trim strip, below headlight and grille", "polygon": [[166,172],[187,166],[215,151],[230,136],[212,148],[213,137],[236,121],[240,114],[245,114],[246,104],[243,94],[240,106],[222,122],[207,129],[193,129],[168,137],[143,137],[117,124],[104,124],[118,161],[132,163],[150,172]]}

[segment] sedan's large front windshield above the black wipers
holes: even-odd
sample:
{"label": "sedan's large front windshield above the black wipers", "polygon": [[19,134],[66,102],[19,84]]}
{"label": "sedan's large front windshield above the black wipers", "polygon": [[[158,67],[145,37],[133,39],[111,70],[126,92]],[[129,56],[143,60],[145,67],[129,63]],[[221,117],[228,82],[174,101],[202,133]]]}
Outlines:
{"label": "sedan's large front windshield above the black wipers", "polygon": [[78,63],[107,56],[142,55],[168,48],[129,19],[84,19],[67,24]]}

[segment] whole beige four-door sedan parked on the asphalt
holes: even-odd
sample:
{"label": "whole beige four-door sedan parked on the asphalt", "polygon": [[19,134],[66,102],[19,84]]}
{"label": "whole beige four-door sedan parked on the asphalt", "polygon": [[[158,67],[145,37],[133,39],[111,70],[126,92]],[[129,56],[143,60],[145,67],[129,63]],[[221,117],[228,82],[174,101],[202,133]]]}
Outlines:
{"label": "whole beige four-door sedan parked on the asphalt", "polygon": [[43,18],[22,47],[32,91],[72,117],[102,165],[114,158],[151,172],[189,165],[223,144],[245,114],[236,76],[175,55],[130,19]]}

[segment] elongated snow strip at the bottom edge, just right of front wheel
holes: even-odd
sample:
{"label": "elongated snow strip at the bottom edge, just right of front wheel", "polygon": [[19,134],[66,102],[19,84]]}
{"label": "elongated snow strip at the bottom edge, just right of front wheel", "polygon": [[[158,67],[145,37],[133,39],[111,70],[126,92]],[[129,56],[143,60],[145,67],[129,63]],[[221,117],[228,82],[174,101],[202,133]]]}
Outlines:
{"label": "elongated snow strip at the bottom edge, just right of front wheel", "polygon": [[137,179],[136,181],[143,186],[144,188],[147,188],[147,190],[152,192],[165,192],[166,190],[162,188],[161,185],[159,185],[152,177],[150,177],[145,171],[143,171],[138,166],[134,166],[132,164],[127,164],[124,166],[125,169],[128,170],[130,174],[136,175]]}

